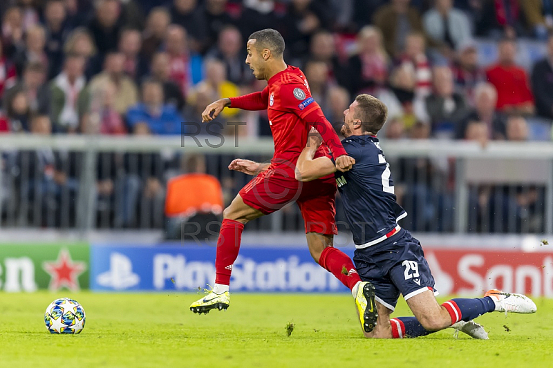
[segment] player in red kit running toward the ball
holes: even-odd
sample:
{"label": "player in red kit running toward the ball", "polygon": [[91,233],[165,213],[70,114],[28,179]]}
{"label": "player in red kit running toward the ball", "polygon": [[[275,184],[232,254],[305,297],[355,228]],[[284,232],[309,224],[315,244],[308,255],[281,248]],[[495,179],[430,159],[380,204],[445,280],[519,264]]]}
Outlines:
{"label": "player in red kit running toward the ball", "polygon": [[[319,130],[326,144],[326,148],[321,148],[317,155],[332,153],[339,171],[348,171],[355,160],[347,155],[332,125],[311,97],[303,72],[285,64],[283,51],[284,40],[276,30],[254,32],[247,41],[246,64],[253,70],[256,79],[265,79],[268,86],[261,92],[215,101],[202,114],[203,122],[209,122],[225,107],[244,110],[267,108],[274,139],[274,156],[270,164],[236,159],[229,165],[232,170],[257,175],[223,212],[217,240],[214,288],[205,298],[192,303],[190,310],[207,313],[211,309],[229,307],[230,275],[232,264],[238,257],[244,224],[295,201],[306,224],[311,255],[321,267],[352,290],[362,325],[366,331],[372,330],[376,321],[374,287],[360,280],[348,255],[332,247],[332,238],[336,233],[335,178],[328,175],[303,184],[295,178],[296,162],[306,145],[311,126]],[[344,267],[347,272],[343,272]]]}

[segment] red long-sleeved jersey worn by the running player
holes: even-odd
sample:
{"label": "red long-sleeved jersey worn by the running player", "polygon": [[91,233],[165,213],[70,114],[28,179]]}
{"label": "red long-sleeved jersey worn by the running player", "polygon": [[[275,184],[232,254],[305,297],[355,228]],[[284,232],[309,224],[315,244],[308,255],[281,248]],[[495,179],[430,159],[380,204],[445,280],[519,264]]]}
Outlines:
{"label": "red long-sleeved jersey worn by the running player", "polygon": [[[324,117],[319,104],[311,97],[306,76],[295,66],[288,66],[272,76],[263,91],[232,97],[230,101],[232,108],[268,109],[274,140],[274,156],[270,169],[282,176],[283,180],[296,182],[296,163],[301,151],[306,147],[311,126],[319,131],[334,157],[346,155],[332,125]],[[324,154],[324,148],[317,152],[317,156]]]}

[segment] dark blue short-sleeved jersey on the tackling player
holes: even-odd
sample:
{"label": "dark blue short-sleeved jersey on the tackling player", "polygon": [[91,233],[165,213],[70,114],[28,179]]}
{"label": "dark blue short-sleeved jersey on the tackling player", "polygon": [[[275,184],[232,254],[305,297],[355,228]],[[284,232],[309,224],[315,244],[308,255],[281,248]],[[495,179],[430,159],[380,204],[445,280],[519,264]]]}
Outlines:
{"label": "dark blue short-sleeved jersey on the tackling player", "polygon": [[378,139],[352,135],[341,143],[355,165],[346,173],[337,171],[336,182],[355,246],[364,248],[391,235],[407,213],[395,202],[390,165]]}

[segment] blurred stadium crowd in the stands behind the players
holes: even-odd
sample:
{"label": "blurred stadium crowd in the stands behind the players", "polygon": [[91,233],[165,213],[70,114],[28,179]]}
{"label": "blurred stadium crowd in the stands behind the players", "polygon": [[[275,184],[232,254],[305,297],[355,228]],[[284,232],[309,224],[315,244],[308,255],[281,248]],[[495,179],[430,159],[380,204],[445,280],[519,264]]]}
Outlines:
{"label": "blurred stadium crowd in the stands behind the players", "polygon": [[[285,39],[285,60],[303,69],[337,129],[353,97],[370,93],[389,110],[381,139],[468,139],[482,145],[551,139],[549,0],[5,0],[0,17],[1,133],[187,133],[181,122],[199,124],[211,101],[263,88],[265,81],[256,81],[244,62],[245,40],[255,30],[274,28]],[[538,50],[523,55],[524,65],[521,43]],[[486,50],[496,59],[482,57]],[[271,134],[265,111],[226,109],[218,121],[247,123],[223,125],[223,134]],[[21,154],[3,155],[3,168],[17,166]],[[132,226],[136,220],[129,216],[140,193],[162,206],[167,168],[185,165],[160,155],[116,156],[99,160],[110,164],[97,170],[97,191],[113,202],[120,188],[125,203],[113,222]],[[76,192],[72,167],[78,165],[67,161],[77,160],[38,155],[34,165],[51,183],[44,190],[70,186]],[[402,167],[408,164],[424,166],[423,176],[448,176],[431,162]],[[142,171],[114,184],[118,168],[128,174],[131,166]],[[232,191],[235,185],[223,186]],[[420,198],[432,191],[398,189],[400,202],[402,195]],[[491,202],[494,189],[484,192]],[[474,206],[485,206],[484,192],[474,193]],[[502,197],[512,206],[528,206],[539,202],[541,190],[532,193],[517,189]],[[444,189],[439,200],[422,202],[451,206],[451,197]],[[421,229],[435,211],[423,211],[429,215]],[[450,229],[450,222],[440,226]]]}

